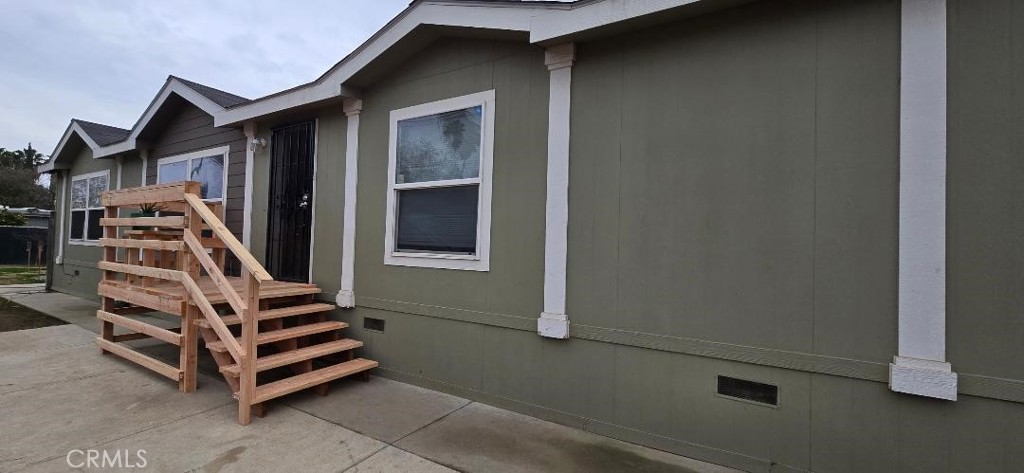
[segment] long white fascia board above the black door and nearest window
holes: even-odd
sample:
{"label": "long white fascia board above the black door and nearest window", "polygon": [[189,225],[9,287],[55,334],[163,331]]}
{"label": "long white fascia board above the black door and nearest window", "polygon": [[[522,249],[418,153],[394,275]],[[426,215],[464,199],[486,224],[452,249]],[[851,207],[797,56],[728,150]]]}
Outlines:
{"label": "long white fascia board above the black door and nearest window", "polygon": [[214,125],[231,125],[329,98],[359,98],[359,92],[345,87],[345,82],[418,27],[464,27],[528,32],[534,16],[550,10],[550,7],[541,6],[449,3],[414,5],[315,83],[225,110],[214,115]]}

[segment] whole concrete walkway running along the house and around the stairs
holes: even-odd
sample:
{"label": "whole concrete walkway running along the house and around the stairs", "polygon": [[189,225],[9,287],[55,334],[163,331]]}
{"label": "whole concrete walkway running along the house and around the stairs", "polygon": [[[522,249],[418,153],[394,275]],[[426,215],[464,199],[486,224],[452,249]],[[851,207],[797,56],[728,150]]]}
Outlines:
{"label": "whole concrete walkway running along the house and around the stairs", "polygon": [[[208,354],[199,391],[178,393],[99,353],[95,303],[32,292],[0,297],[71,325],[0,333],[0,472],[87,471],[90,449],[120,453],[125,470],[144,459],[132,471],[735,471],[378,377],[272,401],[242,427]],[[167,345],[132,343],[176,360]]]}

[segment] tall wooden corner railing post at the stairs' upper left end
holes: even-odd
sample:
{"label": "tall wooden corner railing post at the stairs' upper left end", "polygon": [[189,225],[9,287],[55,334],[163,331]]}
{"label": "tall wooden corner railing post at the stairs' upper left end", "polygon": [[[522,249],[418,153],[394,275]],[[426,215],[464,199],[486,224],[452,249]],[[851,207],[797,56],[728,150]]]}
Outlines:
{"label": "tall wooden corner railing post at the stairs' upper left end", "polygon": [[[194,209],[189,209],[186,212],[185,228],[183,231],[190,233],[197,239],[202,234],[203,219],[200,218],[199,213]],[[185,277],[199,284],[199,258],[193,254],[191,249],[185,247],[183,250],[181,252],[181,271],[185,273]],[[183,376],[178,383],[178,389],[181,392],[195,392],[197,377],[199,376],[199,326],[196,322],[199,320],[200,309],[195,304],[188,291],[185,291],[185,303],[184,313],[181,314],[181,351],[178,360],[178,367],[182,371]]]}

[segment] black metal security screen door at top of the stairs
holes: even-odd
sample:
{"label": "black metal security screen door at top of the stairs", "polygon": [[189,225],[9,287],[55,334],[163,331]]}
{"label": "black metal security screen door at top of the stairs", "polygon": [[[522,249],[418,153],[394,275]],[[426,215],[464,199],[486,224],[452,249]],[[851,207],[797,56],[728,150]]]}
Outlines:
{"label": "black metal security screen door at top of the stairs", "polygon": [[309,281],[315,124],[274,128],[270,139],[267,270],[275,280]]}

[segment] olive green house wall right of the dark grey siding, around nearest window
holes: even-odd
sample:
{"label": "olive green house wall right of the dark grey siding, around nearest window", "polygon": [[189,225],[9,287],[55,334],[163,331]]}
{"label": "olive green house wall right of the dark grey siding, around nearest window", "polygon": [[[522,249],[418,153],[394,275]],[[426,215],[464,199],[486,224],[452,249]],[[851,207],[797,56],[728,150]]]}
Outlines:
{"label": "olive green house wall right of the dark grey siding, around nearest window", "polygon": [[[758,2],[578,45],[566,341],[535,333],[543,51],[438,41],[365,90],[357,306],[335,316],[350,322],[382,376],[716,463],[1012,471],[1024,462],[1014,361],[1024,349],[1014,342],[1024,301],[1013,256],[1024,235],[1007,222],[1020,220],[1014,182],[1024,168],[1013,150],[1024,103],[1012,79],[1024,60],[1010,56],[1021,35],[1011,6],[950,3],[955,402],[887,385],[897,351],[893,0]],[[498,113],[490,270],[385,266],[389,112],[489,89]],[[313,282],[333,300],[345,119],[340,105],[315,115]],[[266,156],[257,155],[255,196],[266,193]],[[254,203],[260,258],[265,206]],[[385,319],[385,332],[364,330],[365,317]],[[778,385],[779,407],[716,396],[717,375]]]}

